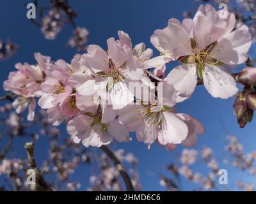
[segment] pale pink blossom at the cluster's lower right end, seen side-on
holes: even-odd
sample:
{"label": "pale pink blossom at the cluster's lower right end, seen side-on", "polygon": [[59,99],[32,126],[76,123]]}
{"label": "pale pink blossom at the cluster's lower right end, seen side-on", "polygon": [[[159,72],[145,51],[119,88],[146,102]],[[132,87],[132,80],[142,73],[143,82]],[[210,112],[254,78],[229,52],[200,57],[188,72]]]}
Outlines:
{"label": "pale pink blossom at the cluster's lower right end, seen side-on", "polygon": [[179,143],[193,145],[196,136],[204,133],[204,127],[189,115],[175,113],[177,93],[172,85],[163,82],[163,90],[163,96],[151,98],[147,104],[141,102],[120,110],[118,120],[135,132],[140,142],[147,143],[148,149],[156,140],[168,150]]}

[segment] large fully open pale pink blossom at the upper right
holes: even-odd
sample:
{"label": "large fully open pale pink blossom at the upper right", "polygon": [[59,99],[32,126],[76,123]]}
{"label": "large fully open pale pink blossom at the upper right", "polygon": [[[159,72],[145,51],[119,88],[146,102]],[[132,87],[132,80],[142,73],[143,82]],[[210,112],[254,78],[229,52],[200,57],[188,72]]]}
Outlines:
{"label": "large fully open pale pink blossom at the upper right", "polygon": [[151,59],[153,67],[176,59],[182,63],[167,78],[183,96],[193,93],[197,76],[214,98],[227,99],[238,91],[230,66],[246,61],[252,36],[246,25],[232,31],[234,13],[220,18],[219,12],[210,4],[201,5],[193,19],[179,22],[172,18],[167,27],[151,36],[152,44],[161,52],[161,56]]}

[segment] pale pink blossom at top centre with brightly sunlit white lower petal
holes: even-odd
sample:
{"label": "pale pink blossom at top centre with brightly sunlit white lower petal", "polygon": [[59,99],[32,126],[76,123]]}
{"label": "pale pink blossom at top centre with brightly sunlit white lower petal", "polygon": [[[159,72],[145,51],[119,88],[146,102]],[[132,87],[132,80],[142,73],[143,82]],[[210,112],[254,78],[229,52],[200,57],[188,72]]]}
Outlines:
{"label": "pale pink blossom at top centre with brightly sunlit white lower petal", "polygon": [[100,96],[105,94],[104,98],[108,104],[113,105],[114,110],[124,108],[134,100],[134,94],[129,90],[129,82],[143,78],[142,61],[143,57],[147,57],[147,54],[138,51],[136,51],[137,57],[133,55],[128,34],[118,31],[118,36],[119,40],[114,38],[107,40],[107,52],[98,45],[88,46],[88,53],[83,55],[83,59],[95,73],[93,75],[95,78],[77,87],[78,94],[82,96],[99,94],[99,89],[104,91],[102,88],[107,88]]}

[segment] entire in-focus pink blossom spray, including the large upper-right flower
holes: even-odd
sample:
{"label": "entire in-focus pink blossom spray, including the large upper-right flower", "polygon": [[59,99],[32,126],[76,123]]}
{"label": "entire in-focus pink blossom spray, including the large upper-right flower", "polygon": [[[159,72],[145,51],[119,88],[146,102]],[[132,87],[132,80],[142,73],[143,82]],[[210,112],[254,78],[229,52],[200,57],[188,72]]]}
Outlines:
{"label": "entire in-focus pink blossom spray, including the large upper-right flower", "polygon": [[[114,138],[129,142],[129,132],[148,149],[154,142],[168,150],[178,144],[191,146],[204,126],[177,113],[176,105],[190,98],[197,76],[214,97],[236,94],[236,81],[227,69],[246,61],[252,37],[245,25],[232,31],[235,24],[233,13],[220,18],[207,4],[193,19],[181,23],[172,18],[166,28],[154,32],[150,41],[161,52],[158,57],[151,58],[152,50],[144,43],[133,47],[129,35],[118,31],[118,40],[107,40],[107,50],[89,45],[88,52],[75,55],[70,64],[35,54],[38,63],[17,64],[4,89],[19,96],[13,102],[18,113],[29,108],[29,120],[39,97],[49,121],[55,126],[66,121],[72,140],[86,147],[108,145]],[[165,64],[175,60],[182,64],[164,78]]]}

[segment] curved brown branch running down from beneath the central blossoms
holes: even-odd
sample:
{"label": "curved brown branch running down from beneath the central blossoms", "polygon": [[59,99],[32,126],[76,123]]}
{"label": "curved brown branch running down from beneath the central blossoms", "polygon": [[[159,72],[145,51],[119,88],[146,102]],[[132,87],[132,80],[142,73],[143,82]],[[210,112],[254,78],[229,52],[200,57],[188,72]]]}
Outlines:
{"label": "curved brown branch running down from beneath the central blossoms", "polygon": [[116,158],[115,154],[111,151],[111,149],[109,149],[109,147],[106,145],[102,145],[100,147],[100,149],[102,149],[108,155],[108,157],[111,159],[111,161],[113,161],[113,163],[116,166],[117,170],[119,171],[122,179],[124,180],[124,183],[126,186],[126,191],[134,191],[134,187],[132,186],[132,182],[131,182],[131,179],[130,179],[128,173],[125,171],[124,166]]}

